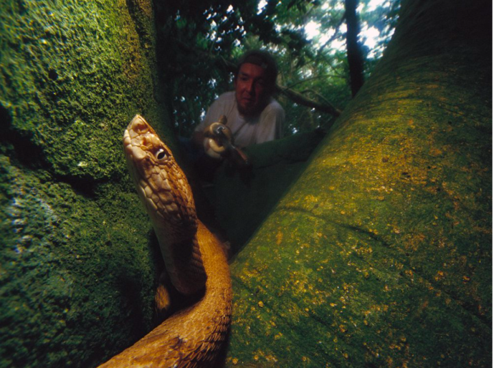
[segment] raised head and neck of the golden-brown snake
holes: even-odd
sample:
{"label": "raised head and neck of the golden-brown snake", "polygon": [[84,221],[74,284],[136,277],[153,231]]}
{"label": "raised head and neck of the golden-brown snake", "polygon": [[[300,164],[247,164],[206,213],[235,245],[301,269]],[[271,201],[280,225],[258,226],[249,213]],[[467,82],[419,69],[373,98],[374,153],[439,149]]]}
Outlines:
{"label": "raised head and neck of the golden-brown snake", "polygon": [[179,292],[192,294],[204,286],[206,274],[196,240],[196,209],[185,174],[169,148],[140,115],[128,124],[124,151],[170,280]]}

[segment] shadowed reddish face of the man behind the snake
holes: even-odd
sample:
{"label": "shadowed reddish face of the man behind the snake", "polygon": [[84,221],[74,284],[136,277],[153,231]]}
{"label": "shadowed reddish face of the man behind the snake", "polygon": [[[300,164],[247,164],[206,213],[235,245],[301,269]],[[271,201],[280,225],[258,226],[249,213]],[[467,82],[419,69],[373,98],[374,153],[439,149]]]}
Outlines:
{"label": "shadowed reddish face of the man behind the snake", "polygon": [[246,116],[261,113],[269,96],[266,70],[248,62],[242,64],[235,78],[235,97],[239,112]]}

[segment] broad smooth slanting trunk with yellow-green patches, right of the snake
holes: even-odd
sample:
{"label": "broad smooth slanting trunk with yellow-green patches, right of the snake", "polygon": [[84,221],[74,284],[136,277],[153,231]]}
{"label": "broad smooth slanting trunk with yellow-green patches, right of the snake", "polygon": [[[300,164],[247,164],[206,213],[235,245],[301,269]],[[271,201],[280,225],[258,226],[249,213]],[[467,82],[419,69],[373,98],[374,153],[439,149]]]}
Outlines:
{"label": "broad smooth slanting trunk with yellow-green patches, right of the snake", "polygon": [[228,367],[491,366],[491,6],[403,3],[232,264]]}

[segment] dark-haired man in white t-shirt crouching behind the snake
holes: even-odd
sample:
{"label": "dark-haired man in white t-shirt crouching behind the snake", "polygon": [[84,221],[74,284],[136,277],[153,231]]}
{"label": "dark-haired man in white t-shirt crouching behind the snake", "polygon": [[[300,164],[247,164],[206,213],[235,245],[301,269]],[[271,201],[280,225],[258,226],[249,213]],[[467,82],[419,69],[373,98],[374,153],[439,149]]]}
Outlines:
{"label": "dark-haired man in white t-shirt crouching behind the snake", "polygon": [[207,111],[192,135],[196,146],[208,150],[204,129],[226,116],[235,146],[244,148],[281,138],[285,111],[272,94],[278,69],[266,51],[248,51],[239,60],[235,72],[235,91],[220,95]]}

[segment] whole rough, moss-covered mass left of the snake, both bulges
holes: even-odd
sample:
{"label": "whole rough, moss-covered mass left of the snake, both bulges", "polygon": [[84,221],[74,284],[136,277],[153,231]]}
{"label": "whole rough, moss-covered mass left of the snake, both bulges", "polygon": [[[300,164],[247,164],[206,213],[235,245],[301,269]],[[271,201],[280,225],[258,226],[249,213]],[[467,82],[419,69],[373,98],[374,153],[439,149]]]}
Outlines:
{"label": "whole rough, moss-covered mass left of the snake, both bulges", "polygon": [[0,367],[95,366],[152,326],[121,148],[136,113],[172,136],[152,3],[1,0],[0,39]]}

